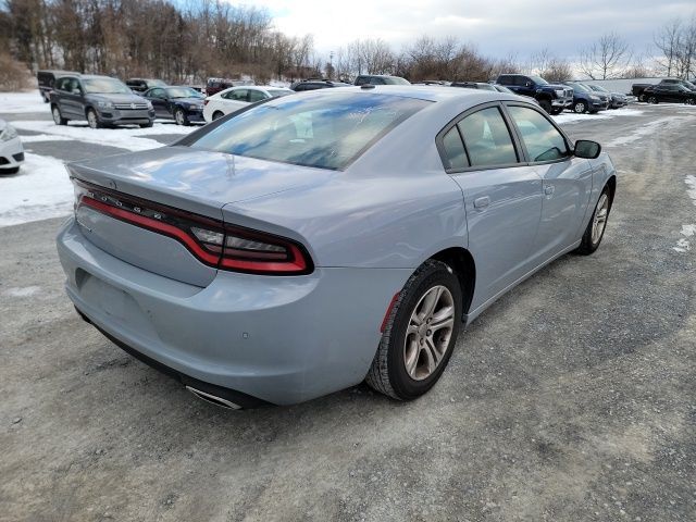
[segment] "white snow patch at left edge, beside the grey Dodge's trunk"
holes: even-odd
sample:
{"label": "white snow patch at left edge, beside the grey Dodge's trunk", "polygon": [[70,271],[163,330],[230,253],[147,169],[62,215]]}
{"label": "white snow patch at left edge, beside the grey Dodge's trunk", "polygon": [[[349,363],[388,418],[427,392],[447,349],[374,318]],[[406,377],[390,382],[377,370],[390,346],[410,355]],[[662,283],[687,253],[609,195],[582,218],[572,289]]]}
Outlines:
{"label": "white snow patch at left edge, beside the grey Dodge's trunk", "polygon": [[0,226],[67,215],[73,185],[61,160],[27,152],[18,174],[0,176]]}

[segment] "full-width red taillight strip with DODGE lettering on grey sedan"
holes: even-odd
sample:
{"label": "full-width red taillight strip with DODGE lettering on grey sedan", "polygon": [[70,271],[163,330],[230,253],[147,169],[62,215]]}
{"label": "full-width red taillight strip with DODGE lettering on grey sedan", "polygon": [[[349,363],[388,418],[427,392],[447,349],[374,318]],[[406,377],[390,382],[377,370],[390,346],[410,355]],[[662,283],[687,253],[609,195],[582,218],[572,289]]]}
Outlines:
{"label": "full-width red taillight strip with DODGE lettering on grey sedan", "polygon": [[73,179],[80,207],[176,239],[210,266],[253,274],[309,274],[307,250],[284,237],[226,225],[217,220]]}

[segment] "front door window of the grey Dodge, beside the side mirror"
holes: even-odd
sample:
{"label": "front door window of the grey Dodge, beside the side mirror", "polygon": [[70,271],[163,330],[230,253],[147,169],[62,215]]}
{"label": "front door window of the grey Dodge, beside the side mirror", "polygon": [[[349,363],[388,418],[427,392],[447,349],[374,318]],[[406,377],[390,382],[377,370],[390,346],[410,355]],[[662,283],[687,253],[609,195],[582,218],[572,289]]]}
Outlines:
{"label": "front door window of the grey Dodge, beside the side mirror", "polygon": [[508,112],[520,129],[531,161],[554,161],[570,156],[566,138],[534,109],[508,107]]}

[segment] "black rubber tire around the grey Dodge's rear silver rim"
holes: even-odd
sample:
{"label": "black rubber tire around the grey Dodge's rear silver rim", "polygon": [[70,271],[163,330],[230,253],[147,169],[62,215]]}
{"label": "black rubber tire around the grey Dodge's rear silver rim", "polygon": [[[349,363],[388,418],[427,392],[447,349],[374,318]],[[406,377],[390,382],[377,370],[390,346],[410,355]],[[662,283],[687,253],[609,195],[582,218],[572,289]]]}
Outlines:
{"label": "black rubber tire around the grey Dodge's rear silver rim", "polygon": [[[439,362],[427,376],[412,378],[406,369],[407,328],[411,315],[421,304],[425,295],[437,286],[449,290],[453,307],[453,321],[449,341],[442,351]],[[452,270],[442,261],[428,260],[423,263],[406,282],[399,293],[380,341],[380,347],[372,361],[365,382],[373,389],[399,400],[412,400],[431,389],[439,380],[452,353],[459,327],[461,325],[462,296],[459,278]],[[424,323],[423,323],[424,324]],[[430,321],[428,321],[430,324]],[[430,326],[425,326],[430,328]],[[440,331],[438,331],[440,332]],[[411,334],[414,335],[414,334]],[[428,335],[435,335],[430,334]],[[445,339],[442,339],[443,341]],[[417,364],[425,350],[418,351]]]}

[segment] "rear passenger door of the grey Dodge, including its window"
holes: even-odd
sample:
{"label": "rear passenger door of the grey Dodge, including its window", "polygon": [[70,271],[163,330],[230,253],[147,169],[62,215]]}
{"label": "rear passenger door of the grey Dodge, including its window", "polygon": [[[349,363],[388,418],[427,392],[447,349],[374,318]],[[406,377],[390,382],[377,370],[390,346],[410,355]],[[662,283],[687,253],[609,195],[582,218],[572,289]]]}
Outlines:
{"label": "rear passenger door of the grey Dodge, including its window", "polygon": [[529,271],[542,215],[542,178],[522,164],[520,145],[497,102],[445,127],[438,147],[464,196],[469,250],[476,260],[475,309]]}

